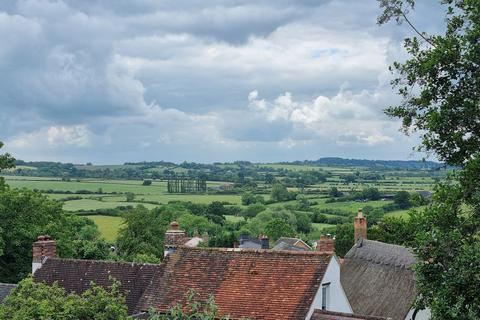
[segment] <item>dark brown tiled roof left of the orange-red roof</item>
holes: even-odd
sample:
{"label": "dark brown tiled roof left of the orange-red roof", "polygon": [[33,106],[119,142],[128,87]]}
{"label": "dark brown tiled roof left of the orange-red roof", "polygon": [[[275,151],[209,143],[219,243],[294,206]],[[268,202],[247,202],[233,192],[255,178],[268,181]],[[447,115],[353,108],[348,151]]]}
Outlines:
{"label": "dark brown tiled roof left of the orange-red roof", "polygon": [[114,261],[48,259],[34,274],[35,281],[51,284],[55,281],[68,292],[82,293],[90,282],[107,287],[110,277],[121,283],[126,293],[129,314],[136,312],[136,305],[155,273],[161,273],[162,265],[125,263]]}

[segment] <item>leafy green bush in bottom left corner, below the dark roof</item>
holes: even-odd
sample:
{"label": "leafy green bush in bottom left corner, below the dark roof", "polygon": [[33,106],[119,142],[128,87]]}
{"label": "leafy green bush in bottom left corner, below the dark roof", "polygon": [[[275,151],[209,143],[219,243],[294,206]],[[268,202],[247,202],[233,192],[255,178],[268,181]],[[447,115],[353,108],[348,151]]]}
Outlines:
{"label": "leafy green bush in bottom left corner, below the dark roof", "polygon": [[0,319],[128,319],[125,297],[119,287],[120,283],[114,280],[107,289],[92,283],[78,295],[67,293],[56,283],[47,285],[26,278],[0,305]]}

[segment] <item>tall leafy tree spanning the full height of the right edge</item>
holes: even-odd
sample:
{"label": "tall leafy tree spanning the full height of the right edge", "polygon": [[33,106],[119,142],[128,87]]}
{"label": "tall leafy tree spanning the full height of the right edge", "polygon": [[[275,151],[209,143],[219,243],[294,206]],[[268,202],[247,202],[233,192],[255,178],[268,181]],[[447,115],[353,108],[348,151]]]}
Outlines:
{"label": "tall leafy tree spanning the full height of the right edge", "polygon": [[433,319],[479,319],[480,295],[480,0],[443,0],[444,34],[428,36],[408,20],[414,0],[380,0],[380,24],[407,22],[409,59],[395,62],[392,85],[402,101],[386,113],[419,132],[418,150],[460,166],[436,188],[432,204],[412,215],[418,307]]}

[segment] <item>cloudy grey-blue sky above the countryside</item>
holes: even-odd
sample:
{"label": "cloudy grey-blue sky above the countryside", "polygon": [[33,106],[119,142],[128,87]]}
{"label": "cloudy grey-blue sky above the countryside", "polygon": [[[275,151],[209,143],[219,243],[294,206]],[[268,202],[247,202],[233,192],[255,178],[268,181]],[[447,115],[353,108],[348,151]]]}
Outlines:
{"label": "cloudy grey-blue sky above the countryside", "polygon": [[[410,13],[428,33],[443,8]],[[376,0],[0,2],[0,141],[17,159],[417,159],[383,109],[405,24]]]}

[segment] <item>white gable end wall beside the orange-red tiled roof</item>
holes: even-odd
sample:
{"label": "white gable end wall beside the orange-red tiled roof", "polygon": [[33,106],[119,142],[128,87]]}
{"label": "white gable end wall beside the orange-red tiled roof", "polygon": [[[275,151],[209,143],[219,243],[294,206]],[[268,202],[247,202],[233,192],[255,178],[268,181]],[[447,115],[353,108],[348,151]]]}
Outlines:
{"label": "white gable end wall beside the orange-red tiled roof", "polygon": [[[322,279],[322,285],[330,283],[329,297],[327,298],[327,310],[336,312],[352,313],[352,307],[348,302],[345,291],[340,283],[340,263],[336,256],[332,256],[328,264],[325,275]],[[322,309],[322,286],[318,288],[313,303],[310,306],[305,320],[309,320],[315,309]]]}

